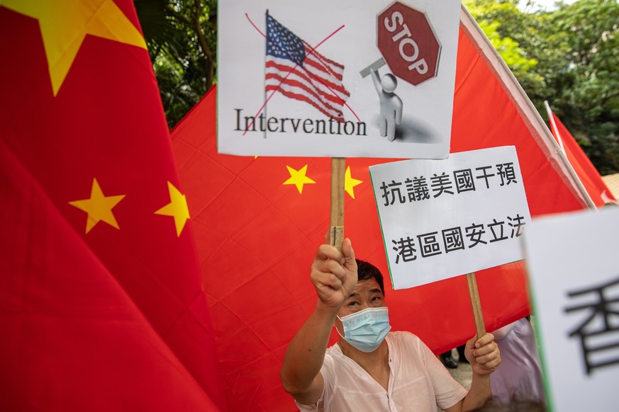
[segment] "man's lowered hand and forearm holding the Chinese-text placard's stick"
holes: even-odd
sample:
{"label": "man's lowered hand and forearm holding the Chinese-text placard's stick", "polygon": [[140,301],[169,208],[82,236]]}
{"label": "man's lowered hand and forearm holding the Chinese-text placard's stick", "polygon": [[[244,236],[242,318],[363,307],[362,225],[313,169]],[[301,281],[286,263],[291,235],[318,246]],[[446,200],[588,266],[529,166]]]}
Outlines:
{"label": "man's lowered hand and forearm holding the Chinese-text placard's stick", "polygon": [[464,348],[464,355],[473,370],[471,389],[462,401],[445,409],[445,412],[475,411],[492,398],[490,374],[501,363],[501,354],[494,342],[494,336],[486,333],[481,339],[472,338]]}

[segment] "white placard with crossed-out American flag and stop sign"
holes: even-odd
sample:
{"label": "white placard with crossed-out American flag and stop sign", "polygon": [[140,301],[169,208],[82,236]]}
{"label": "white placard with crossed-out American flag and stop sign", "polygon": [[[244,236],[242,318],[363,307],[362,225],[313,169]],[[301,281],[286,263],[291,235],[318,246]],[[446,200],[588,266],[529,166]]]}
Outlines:
{"label": "white placard with crossed-out American flag and stop sign", "polygon": [[[220,1],[218,151],[445,159],[459,11],[458,0]],[[372,69],[398,73],[395,90],[379,91]]]}

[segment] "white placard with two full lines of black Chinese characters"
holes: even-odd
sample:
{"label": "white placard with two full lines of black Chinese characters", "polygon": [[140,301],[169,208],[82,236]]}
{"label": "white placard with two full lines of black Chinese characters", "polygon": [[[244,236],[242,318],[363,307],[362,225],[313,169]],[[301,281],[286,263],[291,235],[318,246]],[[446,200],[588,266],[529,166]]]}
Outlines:
{"label": "white placard with two full lines of black Chinese characters", "polygon": [[531,221],[515,147],[371,166],[394,289],[523,258]]}

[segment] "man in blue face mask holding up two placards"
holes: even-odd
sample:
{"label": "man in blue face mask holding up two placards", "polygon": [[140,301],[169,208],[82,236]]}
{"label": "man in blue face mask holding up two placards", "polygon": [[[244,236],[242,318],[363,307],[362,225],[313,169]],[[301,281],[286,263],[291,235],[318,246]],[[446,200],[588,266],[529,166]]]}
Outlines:
{"label": "man in blue face mask holding up two placards", "polygon": [[[321,245],[311,268],[316,309],[291,341],[281,382],[301,411],[472,411],[491,398],[490,374],[501,362],[490,333],[467,342],[473,370],[468,392],[408,332],[389,333],[382,275],[357,261],[350,239],[342,252]],[[331,328],[339,343],[327,349]]]}

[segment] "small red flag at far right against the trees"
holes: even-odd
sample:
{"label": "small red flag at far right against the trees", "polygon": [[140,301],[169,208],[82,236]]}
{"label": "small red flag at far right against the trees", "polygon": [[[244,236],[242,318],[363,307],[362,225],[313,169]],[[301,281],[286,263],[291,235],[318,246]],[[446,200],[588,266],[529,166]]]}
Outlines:
{"label": "small red flag at far right against the trees", "polygon": [[[591,196],[593,203],[597,207],[602,207],[606,202],[615,202],[615,196],[610,192],[598,169],[596,169],[596,166],[593,166],[589,157],[580,147],[580,144],[576,142],[574,136],[571,135],[561,120],[557,118],[557,115],[552,112],[550,114],[552,115],[552,120],[554,120],[554,125],[550,121],[550,131],[554,138],[557,139],[557,142],[559,142],[559,139],[563,142],[565,156],[571,166],[574,167],[574,171],[576,171],[584,188]],[[551,119],[549,118],[549,120]]]}

